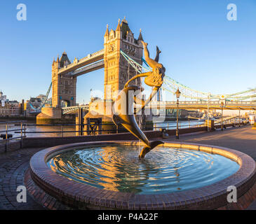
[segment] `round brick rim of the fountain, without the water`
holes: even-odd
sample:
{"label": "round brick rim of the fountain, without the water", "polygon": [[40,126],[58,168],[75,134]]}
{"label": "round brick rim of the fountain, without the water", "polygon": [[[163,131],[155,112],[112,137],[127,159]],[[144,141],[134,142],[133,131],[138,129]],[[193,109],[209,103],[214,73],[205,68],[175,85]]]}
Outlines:
{"label": "round brick rim of the fountain, without the water", "polygon": [[99,145],[137,146],[138,144],[135,141],[102,141],[46,148],[31,158],[30,175],[46,193],[76,209],[217,209],[228,204],[227,188],[229,186],[236,186],[238,197],[241,197],[255,183],[255,161],[250,156],[229,148],[199,144],[166,142],[164,147],[222,155],[237,162],[238,170],[220,181],[199,188],[171,193],[137,194],[96,188],[74,181],[53,172],[47,164],[51,158],[72,151],[74,148],[82,149]]}

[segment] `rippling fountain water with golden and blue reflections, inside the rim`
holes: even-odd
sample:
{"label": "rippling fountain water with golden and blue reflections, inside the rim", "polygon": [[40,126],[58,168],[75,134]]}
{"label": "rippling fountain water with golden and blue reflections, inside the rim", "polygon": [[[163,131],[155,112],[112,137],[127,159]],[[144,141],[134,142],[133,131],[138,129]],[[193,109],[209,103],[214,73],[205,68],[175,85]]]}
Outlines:
{"label": "rippling fountain water with golden and blue reflections, inside the rim", "polygon": [[74,181],[137,194],[171,193],[207,186],[239,165],[221,155],[159,146],[138,158],[138,146],[93,146],[55,155],[53,171]]}

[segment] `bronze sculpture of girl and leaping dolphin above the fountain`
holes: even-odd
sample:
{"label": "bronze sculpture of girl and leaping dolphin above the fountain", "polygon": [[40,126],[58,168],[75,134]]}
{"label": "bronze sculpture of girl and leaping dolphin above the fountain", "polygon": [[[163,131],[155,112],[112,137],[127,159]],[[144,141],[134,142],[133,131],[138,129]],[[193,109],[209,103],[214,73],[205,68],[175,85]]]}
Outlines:
{"label": "bronze sculpture of girl and leaping dolphin above the fountain", "polygon": [[[165,67],[163,64],[160,64],[159,61],[159,54],[161,51],[159,48],[156,46],[156,58],[151,59],[149,57],[149,50],[147,49],[147,43],[144,43],[142,41],[143,47],[144,47],[144,56],[147,64],[151,66],[152,71],[146,72],[146,73],[141,73],[137,76],[134,76],[124,86],[123,90],[119,92],[116,101],[114,102],[114,115],[113,115],[113,121],[115,125],[123,125],[126,130],[128,130],[130,133],[135,135],[138,139],[144,142],[146,146],[142,148],[142,151],[140,152],[139,158],[144,158],[144,156],[149,153],[153,148],[158,146],[159,144],[163,144],[162,141],[149,141],[145,134],[140,130],[140,127],[138,127],[137,122],[135,120],[134,116],[134,108],[133,108],[133,102],[135,104],[137,102],[142,102],[142,106],[140,109],[137,109],[136,114],[142,111],[147,104],[151,101],[151,99],[154,97],[156,92],[158,92],[159,88],[163,84],[163,77],[165,75]],[[140,87],[137,87],[135,85],[129,85],[129,83],[132,80],[135,80],[136,78],[139,77],[146,77],[144,79],[144,83],[146,83],[149,86],[153,87],[153,90],[147,99],[146,102],[144,102],[142,99],[137,99],[137,97],[134,96],[134,94],[130,95],[129,92],[131,91],[134,93],[134,91],[139,90]]]}

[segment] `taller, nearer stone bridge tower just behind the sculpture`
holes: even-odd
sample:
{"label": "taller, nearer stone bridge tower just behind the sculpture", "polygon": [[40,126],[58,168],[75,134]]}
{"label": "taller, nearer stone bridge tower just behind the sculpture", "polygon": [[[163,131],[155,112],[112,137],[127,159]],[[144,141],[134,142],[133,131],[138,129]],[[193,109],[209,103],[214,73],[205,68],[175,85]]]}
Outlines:
{"label": "taller, nearer stone bridge tower just behind the sculpture", "polygon": [[[105,62],[105,82],[104,82],[104,99],[116,99],[119,90],[122,90],[126,82],[136,75],[135,69],[128,65],[126,59],[120,53],[120,50],[129,55],[135,62],[142,64],[143,40],[140,31],[139,37],[136,39],[133,32],[128,26],[126,18],[124,18],[114,31],[107,25],[104,36],[104,62]],[[131,84],[139,85],[140,80],[134,80]]]}

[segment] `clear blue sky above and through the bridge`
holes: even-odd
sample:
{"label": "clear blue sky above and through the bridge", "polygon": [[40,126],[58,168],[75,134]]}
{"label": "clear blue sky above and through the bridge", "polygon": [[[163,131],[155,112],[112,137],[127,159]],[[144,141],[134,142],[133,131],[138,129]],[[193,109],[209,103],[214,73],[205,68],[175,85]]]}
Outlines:
{"label": "clear blue sky above and through the bridge", "polygon": [[[27,21],[18,21],[18,3]],[[237,21],[227,20],[235,3]],[[9,99],[45,94],[53,57],[69,59],[103,48],[106,25],[126,16],[138,36],[162,50],[166,74],[195,90],[213,94],[256,87],[256,0],[180,1],[3,1],[0,8],[0,89]],[[79,76],[77,102],[90,88],[103,90],[104,70]]]}

